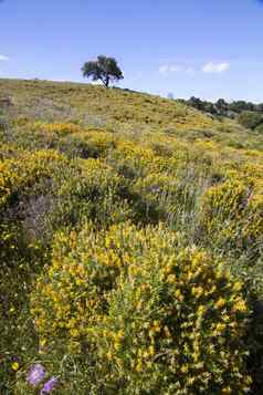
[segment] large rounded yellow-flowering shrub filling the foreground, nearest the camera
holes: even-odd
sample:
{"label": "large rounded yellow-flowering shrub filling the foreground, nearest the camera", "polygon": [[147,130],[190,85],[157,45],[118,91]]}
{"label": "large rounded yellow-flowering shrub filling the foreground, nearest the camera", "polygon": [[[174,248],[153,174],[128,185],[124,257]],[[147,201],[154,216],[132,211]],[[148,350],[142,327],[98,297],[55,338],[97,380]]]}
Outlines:
{"label": "large rounded yellow-flowering shrub filling the foreground, nearest the camera", "polygon": [[249,391],[242,284],[164,226],[59,233],[31,312],[46,352],[86,350],[94,394]]}

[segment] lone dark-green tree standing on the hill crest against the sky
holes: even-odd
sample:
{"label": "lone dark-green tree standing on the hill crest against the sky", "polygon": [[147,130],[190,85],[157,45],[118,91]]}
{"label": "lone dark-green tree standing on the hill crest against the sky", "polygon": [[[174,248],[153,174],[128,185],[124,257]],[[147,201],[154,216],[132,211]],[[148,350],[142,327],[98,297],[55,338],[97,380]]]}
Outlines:
{"label": "lone dark-green tree standing on the hill crest against the sky", "polygon": [[116,59],[104,55],[97,56],[96,61],[84,63],[82,72],[84,77],[102,81],[105,87],[108,87],[111,82],[113,83],[124,77]]}

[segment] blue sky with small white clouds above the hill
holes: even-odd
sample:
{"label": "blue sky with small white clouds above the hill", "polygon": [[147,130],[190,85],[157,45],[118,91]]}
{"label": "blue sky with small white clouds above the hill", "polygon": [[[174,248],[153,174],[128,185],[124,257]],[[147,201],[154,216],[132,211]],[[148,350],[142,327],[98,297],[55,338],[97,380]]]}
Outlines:
{"label": "blue sky with small white clouds above the hill", "polygon": [[83,81],[115,56],[122,86],[263,102],[263,1],[4,0],[0,77]]}

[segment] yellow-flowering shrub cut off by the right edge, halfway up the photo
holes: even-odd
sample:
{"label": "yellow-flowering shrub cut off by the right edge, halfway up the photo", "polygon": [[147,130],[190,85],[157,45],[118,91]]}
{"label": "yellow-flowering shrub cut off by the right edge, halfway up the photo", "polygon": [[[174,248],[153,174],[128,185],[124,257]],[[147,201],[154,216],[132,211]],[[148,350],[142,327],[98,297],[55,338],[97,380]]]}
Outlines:
{"label": "yellow-flowering shrub cut off by the right edge, halfway up the photo", "polygon": [[[254,184],[254,185],[253,185]],[[263,188],[251,177],[230,176],[202,197],[201,221],[212,241],[256,253],[263,228]]]}

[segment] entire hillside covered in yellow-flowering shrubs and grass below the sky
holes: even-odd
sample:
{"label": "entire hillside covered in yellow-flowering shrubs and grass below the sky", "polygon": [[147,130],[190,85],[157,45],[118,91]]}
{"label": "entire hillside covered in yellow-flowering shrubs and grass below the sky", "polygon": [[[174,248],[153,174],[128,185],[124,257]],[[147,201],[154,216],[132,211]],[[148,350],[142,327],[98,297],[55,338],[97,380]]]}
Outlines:
{"label": "entire hillside covered in yellow-flowering shrubs and grass below the sky", "polygon": [[260,126],[119,89],[0,90],[0,393],[261,395]]}

